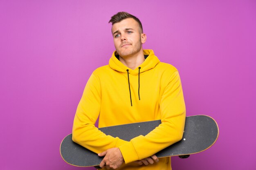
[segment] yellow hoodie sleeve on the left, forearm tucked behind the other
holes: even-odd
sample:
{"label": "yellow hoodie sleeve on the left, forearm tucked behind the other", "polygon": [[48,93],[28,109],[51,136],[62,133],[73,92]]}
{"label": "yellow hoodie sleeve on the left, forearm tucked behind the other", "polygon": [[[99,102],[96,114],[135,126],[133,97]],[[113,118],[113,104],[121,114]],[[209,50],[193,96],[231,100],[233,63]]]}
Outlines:
{"label": "yellow hoodie sleeve on the left, forearm tucked behind the other", "polygon": [[105,135],[94,126],[101,107],[101,85],[99,78],[92,74],[83,91],[74,117],[72,140],[95,153],[118,147],[127,141]]}

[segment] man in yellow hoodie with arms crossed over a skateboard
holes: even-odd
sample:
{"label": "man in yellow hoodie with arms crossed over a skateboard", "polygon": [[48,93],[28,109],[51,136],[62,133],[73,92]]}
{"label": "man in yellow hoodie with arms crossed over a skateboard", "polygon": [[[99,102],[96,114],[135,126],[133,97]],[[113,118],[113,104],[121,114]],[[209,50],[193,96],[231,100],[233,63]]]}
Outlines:
{"label": "man in yellow hoodie with arms crossed over a skateboard", "polygon": [[[177,69],[162,63],[146,42],[141,22],[126,12],[113,15],[115,49],[109,64],[88,79],[74,118],[73,141],[104,156],[101,168],[171,170],[171,158],[154,154],[182,138],[185,104]],[[146,136],[130,141],[105,135],[99,127],[161,119]]]}

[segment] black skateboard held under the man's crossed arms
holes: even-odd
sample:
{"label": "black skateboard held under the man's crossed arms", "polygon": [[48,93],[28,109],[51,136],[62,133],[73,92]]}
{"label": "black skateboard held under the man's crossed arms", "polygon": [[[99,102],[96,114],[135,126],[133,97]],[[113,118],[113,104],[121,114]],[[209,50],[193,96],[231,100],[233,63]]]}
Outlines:
{"label": "black skateboard held under the man's crossed arms", "polygon": [[[119,137],[123,140],[139,135],[147,135],[150,131],[161,124],[161,120],[145,121],[133,124],[108,126],[99,128],[106,135]],[[161,157],[179,156],[187,158],[189,155],[202,152],[210,148],[218,139],[219,128],[216,121],[207,115],[195,115],[186,117],[182,140],[157,152],[155,155]],[[72,141],[72,134],[67,135],[60,146],[61,157],[72,166],[99,168],[103,157],[76,144]]]}

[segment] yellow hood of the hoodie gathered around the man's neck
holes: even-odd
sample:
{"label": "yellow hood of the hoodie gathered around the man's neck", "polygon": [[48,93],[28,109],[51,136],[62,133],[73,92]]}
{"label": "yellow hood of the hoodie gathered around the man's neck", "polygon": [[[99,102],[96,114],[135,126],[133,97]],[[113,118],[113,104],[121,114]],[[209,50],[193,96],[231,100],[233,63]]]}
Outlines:
{"label": "yellow hood of the hoodie gathered around the man's neck", "polygon": [[116,57],[117,51],[114,51],[112,53],[112,56],[109,60],[109,66],[113,70],[116,70],[122,73],[127,73],[127,69],[128,69],[131,75],[137,75],[139,74],[139,67],[140,67],[140,73],[143,73],[144,71],[154,68],[160,62],[157,56],[155,56],[155,53],[153,50],[143,50],[143,53],[144,55],[148,55],[148,57],[146,57],[146,60],[134,70],[132,70],[131,68],[128,68],[117,59]]}

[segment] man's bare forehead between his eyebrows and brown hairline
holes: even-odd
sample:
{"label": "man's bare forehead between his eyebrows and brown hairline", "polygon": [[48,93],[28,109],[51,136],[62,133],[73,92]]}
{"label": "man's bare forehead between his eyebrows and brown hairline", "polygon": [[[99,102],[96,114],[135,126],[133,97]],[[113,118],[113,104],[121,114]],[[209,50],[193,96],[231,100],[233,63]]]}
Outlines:
{"label": "man's bare forehead between his eyebrows and brown hairline", "polygon": [[121,30],[125,30],[127,28],[139,30],[139,23],[132,18],[127,18],[127,19],[121,20],[120,22],[113,24],[112,28],[111,28],[111,32],[113,33],[115,31],[118,31],[118,30],[121,31]]}

